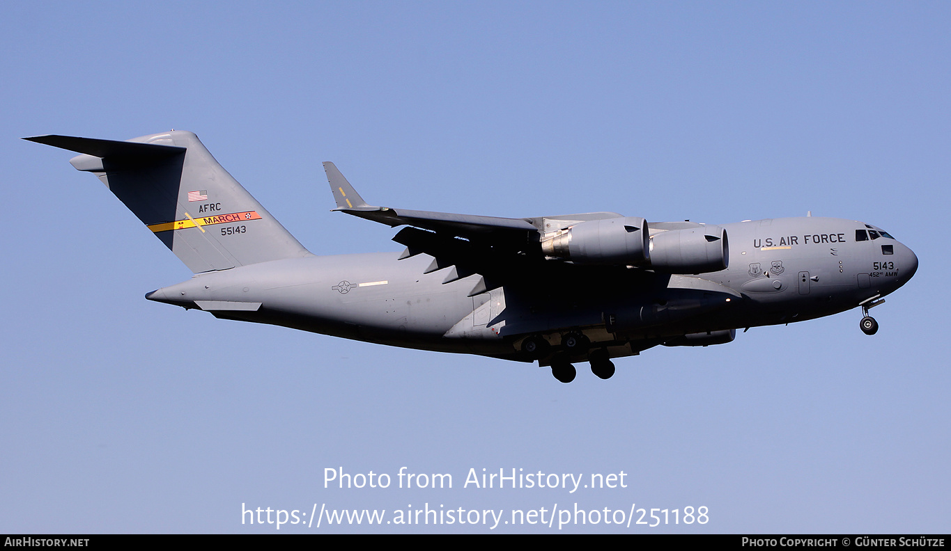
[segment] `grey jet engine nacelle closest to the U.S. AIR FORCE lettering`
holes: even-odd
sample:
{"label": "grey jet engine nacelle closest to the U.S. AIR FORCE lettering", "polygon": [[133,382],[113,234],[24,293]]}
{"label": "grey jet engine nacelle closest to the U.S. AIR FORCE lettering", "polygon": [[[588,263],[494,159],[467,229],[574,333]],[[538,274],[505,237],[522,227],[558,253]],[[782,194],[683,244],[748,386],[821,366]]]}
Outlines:
{"label": "grey jet engine nacelle closest to the U.S. AIR FORCE lettering", "polygon": [[706,274],[726,270],[727,230],[700,226],[660,232],[650,237],[650,267],[668,274]]}

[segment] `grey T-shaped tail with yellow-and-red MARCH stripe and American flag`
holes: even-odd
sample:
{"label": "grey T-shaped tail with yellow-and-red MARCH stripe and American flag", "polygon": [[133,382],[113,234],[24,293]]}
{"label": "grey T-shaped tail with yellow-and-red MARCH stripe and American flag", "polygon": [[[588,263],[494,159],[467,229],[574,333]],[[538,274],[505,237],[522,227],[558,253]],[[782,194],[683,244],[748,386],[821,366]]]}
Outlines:
{"label": "grey T-shaped tail with yellow-and-red MARCH stripe and American flag", "polygon": [[173,130],[126,142],[36,136],[91,172],[198,274],[310,253],[205,149]]}

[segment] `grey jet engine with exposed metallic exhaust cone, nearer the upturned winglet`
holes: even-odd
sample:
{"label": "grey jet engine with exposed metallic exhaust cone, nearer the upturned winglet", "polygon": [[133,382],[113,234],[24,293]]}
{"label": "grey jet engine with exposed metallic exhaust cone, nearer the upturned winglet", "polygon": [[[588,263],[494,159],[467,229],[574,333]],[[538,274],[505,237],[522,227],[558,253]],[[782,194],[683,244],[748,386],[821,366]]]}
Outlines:
{"label": "grey jet engine with exposed metallic exhaust cone, nearer the upturned winglet", "polygon": [[622,217],[588,220],[541,243],[549,257],[579,264],[646,264],[650,260],[648,221]]}

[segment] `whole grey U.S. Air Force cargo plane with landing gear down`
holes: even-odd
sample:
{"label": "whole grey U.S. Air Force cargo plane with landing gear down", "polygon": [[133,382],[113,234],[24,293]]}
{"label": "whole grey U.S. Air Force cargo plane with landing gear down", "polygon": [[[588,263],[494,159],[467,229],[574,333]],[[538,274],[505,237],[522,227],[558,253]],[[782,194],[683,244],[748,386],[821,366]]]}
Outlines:
{"label": "whole grey U.S. Air Force cargo plane with landing gear down", "polygon": [[332,162],[335,211],[392,227],[401,252],[319,257],[191,132],[113,142],[38,136],[91,172],[195,274],[146,295],[215,317],[385,345],[551,366],[664,345],[728,343],[737,329],[868,309],[918,269],[864,222],[775,218],[723,225],[616,213],[495,218],[371,206]]}

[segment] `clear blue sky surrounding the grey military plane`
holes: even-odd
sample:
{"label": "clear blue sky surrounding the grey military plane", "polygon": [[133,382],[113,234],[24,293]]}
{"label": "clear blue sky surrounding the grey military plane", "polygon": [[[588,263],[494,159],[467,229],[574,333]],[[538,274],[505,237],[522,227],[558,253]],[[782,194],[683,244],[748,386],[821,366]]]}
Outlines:
{"label": "clear blue sky surrounding the grey military plane", "polygon": [[[704,525],[562,532],[946,532],[941,284],[951,9],[920,3],[7,3],[0,532],[277,532],[242,504],[705,505]],[[38,134],[196,132],[316,254],[396,251],[365,199],[528,217],[855,218],[918,255],[873,312],[652,349],[601,381],[146,301],[190,273]],[[941,237],[941,238],[939,238]],[[324,488],[324,468],[452,489]],[[474,489],[470,468],[627,473]],[[396,479],[394,479],[396,480]],[[558,531],[557,526],[303,527]]]}

